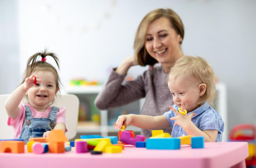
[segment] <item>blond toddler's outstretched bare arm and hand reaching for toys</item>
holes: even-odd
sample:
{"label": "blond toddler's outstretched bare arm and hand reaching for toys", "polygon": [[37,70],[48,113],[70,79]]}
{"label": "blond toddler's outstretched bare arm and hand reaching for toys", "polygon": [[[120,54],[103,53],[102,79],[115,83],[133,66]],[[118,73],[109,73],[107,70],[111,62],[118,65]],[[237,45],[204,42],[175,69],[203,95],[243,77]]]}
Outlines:
{"label": "blond toddler's outstretched bare arm and hand reaching for toys", "polygon": [[126,128],[128,124],[147,130],[163,129],[170,127],[170,124],[164,115],[120,115],[117,119],[116,124],[120,129],[122,128],[122,125],[124,125],[124,127]]}

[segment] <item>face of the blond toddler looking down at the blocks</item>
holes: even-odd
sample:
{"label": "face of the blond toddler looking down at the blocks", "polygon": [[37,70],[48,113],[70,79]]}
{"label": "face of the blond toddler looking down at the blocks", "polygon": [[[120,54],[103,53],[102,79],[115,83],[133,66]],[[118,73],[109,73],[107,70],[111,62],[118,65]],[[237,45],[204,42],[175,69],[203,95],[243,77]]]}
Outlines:
{"label": "face of the blond toddler looking down at the blocks", "polygon": [[181,102],[185,110],[193,111],[199,107],[200,83],[193,78],[187,78],[184,75],[176,77],[175,80],[170,76],[168,87],[173,96],[174,104],[181,108]]}

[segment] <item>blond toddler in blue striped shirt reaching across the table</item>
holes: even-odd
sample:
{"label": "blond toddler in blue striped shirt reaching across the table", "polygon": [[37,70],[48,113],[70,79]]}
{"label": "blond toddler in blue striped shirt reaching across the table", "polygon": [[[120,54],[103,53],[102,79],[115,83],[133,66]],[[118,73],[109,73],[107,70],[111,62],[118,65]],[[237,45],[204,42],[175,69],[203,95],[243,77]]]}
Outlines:
{"label": "blond toddler in blue striped shirt reaching across the table", "polygon": [[130,124],[151,130],[171,126],[171,137],[204,136],[205,142],[220,142],[224,122],[209,105],[216,95],[211,66],[201,57],[183,56],[171,68],[167,81],[174,101],[170,111],[160,116],[121,115],[117,126],[121,129]]}

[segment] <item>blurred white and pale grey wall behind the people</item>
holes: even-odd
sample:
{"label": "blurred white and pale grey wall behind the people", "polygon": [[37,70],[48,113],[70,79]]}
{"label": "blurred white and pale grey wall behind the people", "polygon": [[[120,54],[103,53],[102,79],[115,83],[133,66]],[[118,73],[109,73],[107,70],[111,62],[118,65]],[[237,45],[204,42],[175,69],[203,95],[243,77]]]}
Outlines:
{"label": "blurred white and pale grey wall behind the people", "polygon": [[[255,0],[0,0],[0,9],[9,8],[4,16],[1,10],[0,17],[1,23],[7,22],[0,26],[0,35],[5,37],[0,39],[1,60],[8,60],[1,66],[0,91],[15,89],[27,59],[46,47],[59,56],[64,85],[76,77],[104,82],[110,69],[133,53],[135,32],[142,18],[153,9],[171,8],[185,26],[184,54],[204,57],[220,82],[227,84],[226,128],[254,123],[255,6]],[[10,46],[9,36],[16,39]],[[15,59],[10,61],[12,56]],[[6,71],[18,61],[17,56],[19,66]],[[145,69],[137,66],[128,73],[136,76]],[[10,75],[16,78],[6,80]]]}

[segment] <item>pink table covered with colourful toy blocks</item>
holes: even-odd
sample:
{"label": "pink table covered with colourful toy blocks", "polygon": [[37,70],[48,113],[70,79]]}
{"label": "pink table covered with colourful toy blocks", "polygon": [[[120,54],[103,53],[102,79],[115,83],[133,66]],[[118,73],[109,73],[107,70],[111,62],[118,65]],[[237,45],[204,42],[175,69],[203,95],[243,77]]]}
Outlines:
{"label": "pink table covered with colourful toy blocks", "polygon": [[245,158],[249,155],[247,142],[206,142],[202,149],[192,149],[182,145],[177,150],[154,150],[126,146],[122,153],[0,153],[0,167],[18,168],[80,168],[80,167],[175,167],[175,168],[245,168]]}

